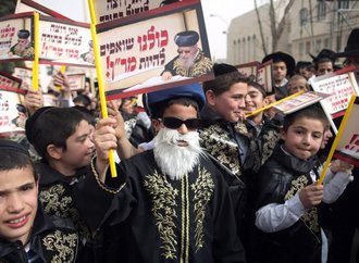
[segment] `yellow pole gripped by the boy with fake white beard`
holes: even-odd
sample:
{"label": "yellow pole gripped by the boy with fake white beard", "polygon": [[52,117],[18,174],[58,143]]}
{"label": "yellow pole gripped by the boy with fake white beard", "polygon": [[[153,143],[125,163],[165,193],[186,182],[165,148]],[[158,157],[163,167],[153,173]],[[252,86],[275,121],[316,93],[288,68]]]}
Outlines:
{"label": "yellow pole gripped by the boy with fake white beard", "polygon": [[[94,2],[92,0],[88,0],[88,7],[90,11],[91,16],[91,37],[92,37],[92,45],[94,45],[94,54],[95,54],[95,64],[96,64],[96,73],[97,73],[97,82],[99,85],[99,96],[100,96],[100,107],[101,107],[101,113],[102,117],[108,117],[108,109],[106,103],[106,96],[104,96],[104,88],[103,88],[103,76],[101,72],[101,60],[100,60],[100,53],[99,53],[99,47],[97,42],[96,37],[96,15],[95,15],[95,9],[94,9]],[[113,150],[109,152],[109,162],[110,162],[110,170],[111,170],[111,176],[116,177],[116,167],[114,164],[114,153]]]}

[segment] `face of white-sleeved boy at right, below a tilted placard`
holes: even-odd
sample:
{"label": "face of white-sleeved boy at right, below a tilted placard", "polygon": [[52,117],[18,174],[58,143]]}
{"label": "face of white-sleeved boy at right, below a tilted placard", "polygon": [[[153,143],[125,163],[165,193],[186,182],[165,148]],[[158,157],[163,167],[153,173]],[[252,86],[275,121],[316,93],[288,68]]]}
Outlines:
{"label": "face of white-sleeved boy at right, below a tilted placard", "polygon": [[301,117],[282,134],[284,147],[290,154],[307,160],[314,155],[322,143],[324,126],[319,120]]}

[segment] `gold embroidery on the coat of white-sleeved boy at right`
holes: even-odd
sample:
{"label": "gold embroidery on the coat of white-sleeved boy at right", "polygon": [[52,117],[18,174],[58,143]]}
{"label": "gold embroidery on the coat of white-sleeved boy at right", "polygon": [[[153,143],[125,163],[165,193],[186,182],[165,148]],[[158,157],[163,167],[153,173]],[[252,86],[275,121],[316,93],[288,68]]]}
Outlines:
{"label": "gold embroidery on the coat of white-sleeved boy at right", "polygon": [[[308,185],[308,178],[305,175],[299,176],[297,179],[292,180],[292,187],[286,193],[284,200],[293,198],[296,192]],[[309,209],[301,217],[300,221],[307,226],[307,228],[315,236],[320,237],[320,226],[318,222],[318,209]]]}

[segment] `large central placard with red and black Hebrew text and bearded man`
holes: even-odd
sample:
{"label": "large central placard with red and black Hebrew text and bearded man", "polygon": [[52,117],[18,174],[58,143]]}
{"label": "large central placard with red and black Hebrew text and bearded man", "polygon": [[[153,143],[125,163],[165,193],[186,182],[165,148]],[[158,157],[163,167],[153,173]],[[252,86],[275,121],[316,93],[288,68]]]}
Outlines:
{"label": "large central placard with red and black Hebrew text and bearded man", "polygon": [[195,2],[186,9],[143,13],[132,23],[124,18],[97,26],[107,96],[213,78],[201,7]]}

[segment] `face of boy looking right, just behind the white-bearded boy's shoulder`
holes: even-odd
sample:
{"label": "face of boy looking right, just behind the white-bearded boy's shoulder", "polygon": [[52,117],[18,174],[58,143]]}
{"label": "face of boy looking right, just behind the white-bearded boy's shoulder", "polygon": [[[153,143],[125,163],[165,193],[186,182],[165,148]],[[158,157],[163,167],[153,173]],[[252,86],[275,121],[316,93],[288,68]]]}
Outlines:
{"label": "face of boy looking right, just behind the white-bearded boy's shoulder", "polygon": [[207,101],[224,120],[236,123],[244,116],[247,91],[248,85],[246,83],[236,83],[219,96],[214,93],[207,96]]}

